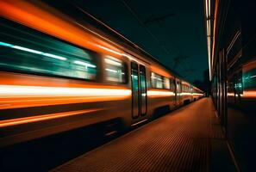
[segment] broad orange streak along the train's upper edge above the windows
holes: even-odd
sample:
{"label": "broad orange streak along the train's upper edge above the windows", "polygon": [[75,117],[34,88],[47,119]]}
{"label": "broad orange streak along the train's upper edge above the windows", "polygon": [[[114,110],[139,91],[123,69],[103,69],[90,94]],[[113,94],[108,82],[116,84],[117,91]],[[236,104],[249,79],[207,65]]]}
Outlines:
{"label": "broad orange streak along the train's upper edge above the windows", "polygon": [[[4,0],[0,1],[0,15],[61,40],[72,42],[75,45],[120,57],[122,52],[115,46],[111,46],[109,43],[89,34],[84,28],[73,22],[71,18],[61,14],[56,9],[47,6],[45,3],[40,5],[41,7],[37,7],[25,1]],[[47,9],[47,11],[44,9]]]}

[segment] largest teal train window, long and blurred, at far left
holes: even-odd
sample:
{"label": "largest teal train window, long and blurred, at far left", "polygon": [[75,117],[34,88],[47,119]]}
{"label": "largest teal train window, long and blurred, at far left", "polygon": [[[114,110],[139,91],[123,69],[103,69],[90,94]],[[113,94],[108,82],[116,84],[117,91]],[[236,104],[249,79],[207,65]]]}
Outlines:
{"label": "largest teal train window, long and blurred, at far left", "polygon": [[96,52],[72,46],[13,22],[1,20],[0,68],[47,76],[95,80]]}

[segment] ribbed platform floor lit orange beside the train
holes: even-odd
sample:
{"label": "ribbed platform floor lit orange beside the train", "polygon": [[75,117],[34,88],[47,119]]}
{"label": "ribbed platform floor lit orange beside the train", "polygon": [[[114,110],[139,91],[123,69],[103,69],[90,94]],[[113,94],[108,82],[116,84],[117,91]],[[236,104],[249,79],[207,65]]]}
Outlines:
{"label": "ribbed platform floor lit orange beside the train", "polygon": [[209,98],[179,108],[53,169],[62,172],[212,170],[236,169]]}

